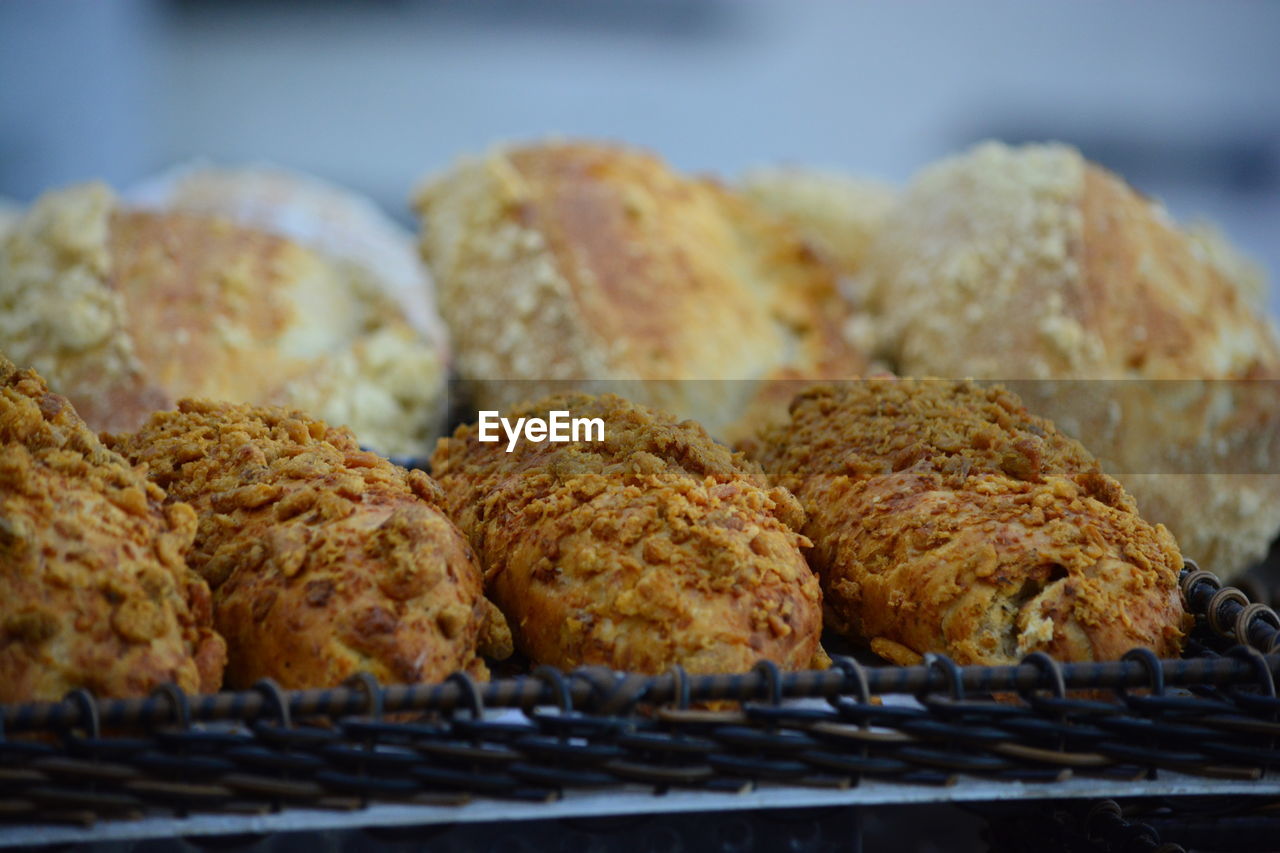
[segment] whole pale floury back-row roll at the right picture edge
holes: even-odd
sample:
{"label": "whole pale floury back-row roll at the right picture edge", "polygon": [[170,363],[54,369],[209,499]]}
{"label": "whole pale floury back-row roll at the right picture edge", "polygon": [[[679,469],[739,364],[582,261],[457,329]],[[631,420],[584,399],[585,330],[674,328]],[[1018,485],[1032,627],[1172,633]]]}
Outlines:
{"label": "whole pale floury back-row roll at the right picture edge", "polygon": [[863,275],[897,373],[1048,380],[1016,387],[1185,555],[1231,575],[1266,552],[1280,343],[1256,269],[1211,232],[1074,149],[986,143],[913,181]]}

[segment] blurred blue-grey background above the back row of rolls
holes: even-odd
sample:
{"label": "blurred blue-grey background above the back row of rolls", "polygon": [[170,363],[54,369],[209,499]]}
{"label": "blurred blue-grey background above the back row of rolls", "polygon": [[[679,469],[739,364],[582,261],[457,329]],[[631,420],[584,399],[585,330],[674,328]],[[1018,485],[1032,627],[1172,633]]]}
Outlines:
{"label": "blurred blue-grey background above the back row of rolls", "polygon": [[207,156],[410,222],[422,175],[499,140],[902,182],[982,138],[1057,138],[1274,280],[1277,45],[1267,0],[6,0],[0,196]]}

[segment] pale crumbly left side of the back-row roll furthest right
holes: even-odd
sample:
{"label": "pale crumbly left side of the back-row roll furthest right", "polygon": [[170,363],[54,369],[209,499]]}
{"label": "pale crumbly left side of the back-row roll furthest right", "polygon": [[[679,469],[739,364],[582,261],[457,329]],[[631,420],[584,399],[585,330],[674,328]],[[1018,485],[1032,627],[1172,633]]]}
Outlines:
{"label": "pale crumbly left side of the back-row roll furthest right", "polygon": [[920,172],[867,261],[891,362],[997,379],[1097,368],[1105,350],[1075,304],[1083,186],[1083,158],[1060,145],[988,142]]}

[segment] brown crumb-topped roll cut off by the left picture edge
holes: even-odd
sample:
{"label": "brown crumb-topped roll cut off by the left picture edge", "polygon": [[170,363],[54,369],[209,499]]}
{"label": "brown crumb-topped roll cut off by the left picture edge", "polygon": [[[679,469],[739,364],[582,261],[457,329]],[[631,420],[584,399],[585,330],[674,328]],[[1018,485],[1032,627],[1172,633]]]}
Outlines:
{"label": "brown crumb-topped roll cut off by the left picture edge", "polygon": [[196,514],[106,450],[64,397],[0,356],[0,702],[221,684]]}

